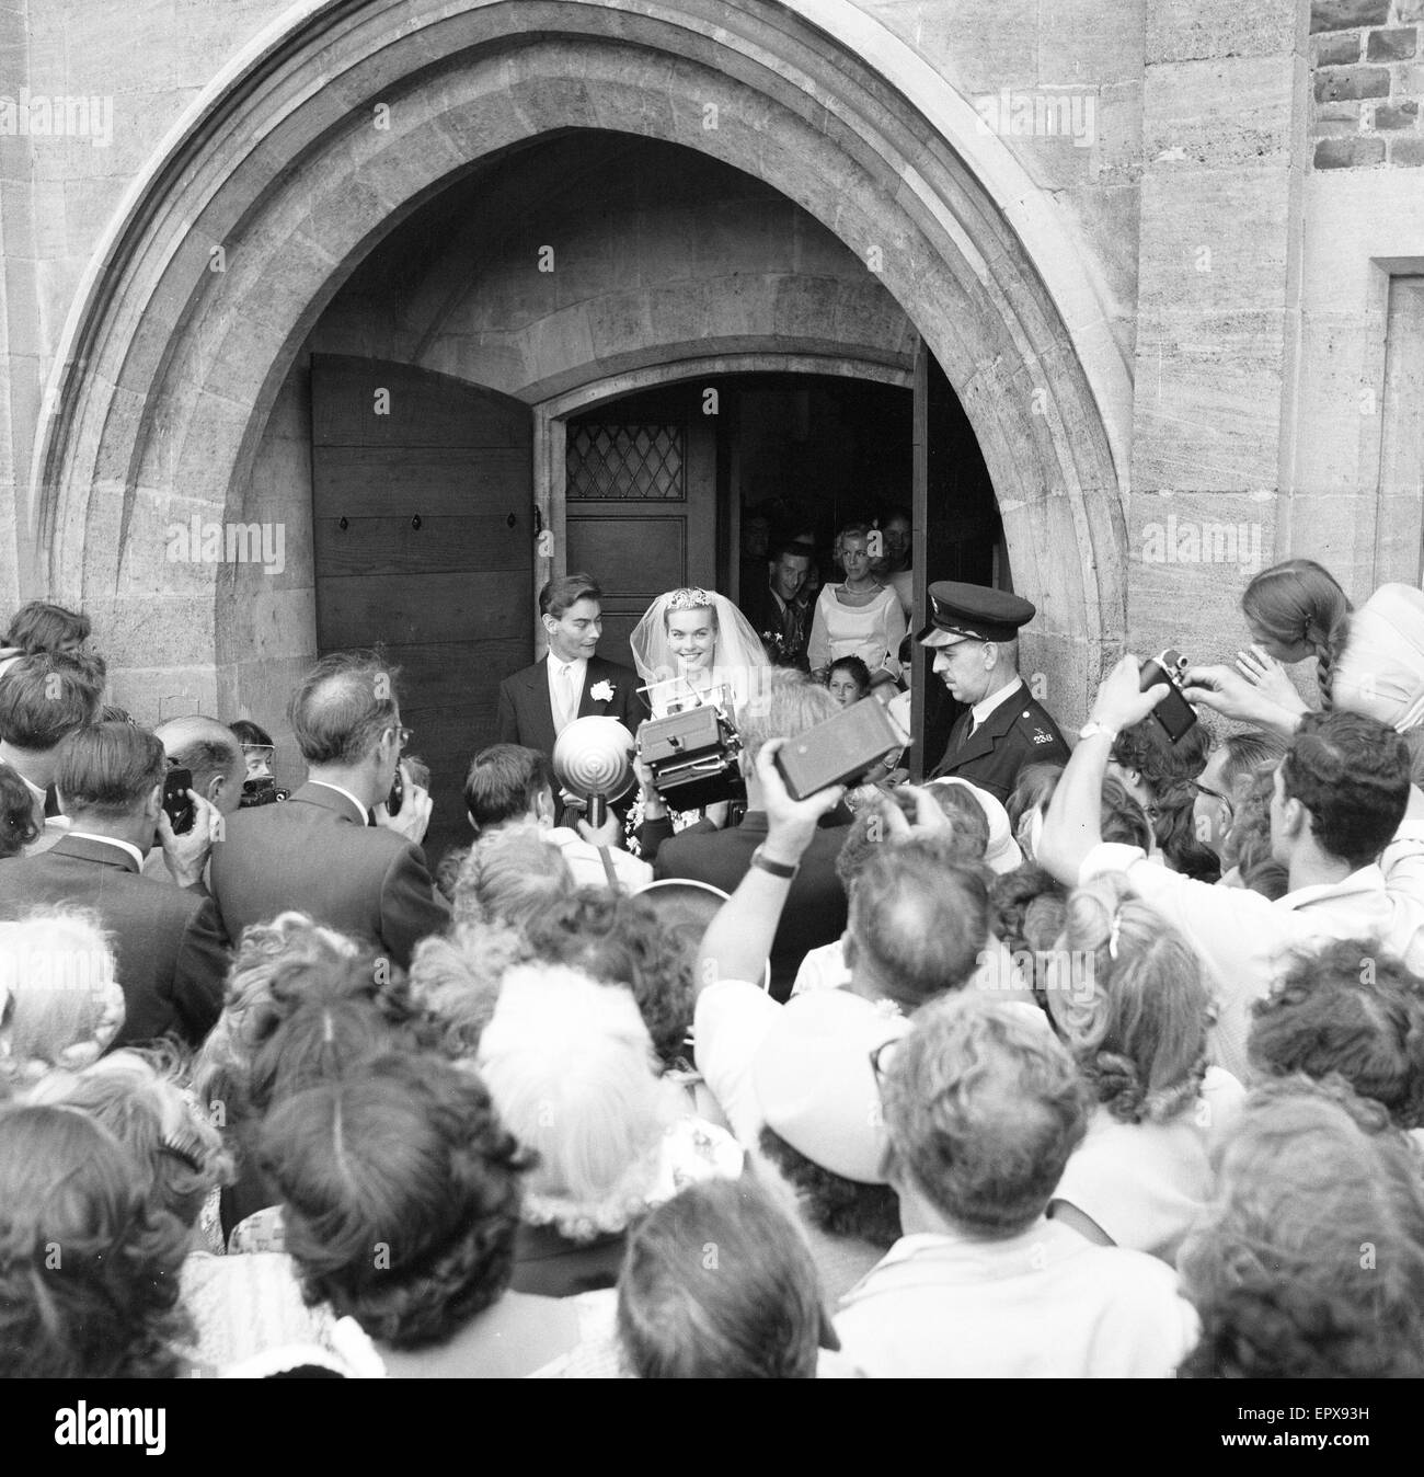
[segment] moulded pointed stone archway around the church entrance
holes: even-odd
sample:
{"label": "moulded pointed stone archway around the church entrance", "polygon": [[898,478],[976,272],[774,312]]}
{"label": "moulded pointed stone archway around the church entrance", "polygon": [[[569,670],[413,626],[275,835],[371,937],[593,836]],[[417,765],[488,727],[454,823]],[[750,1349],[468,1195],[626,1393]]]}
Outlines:
{"label": "moulded pointed stone archway around the church entrance", "polygon": [[1030,662],[1080,709],[1123,629],[1126,369],[1072,242],[972,123],[843,0],[307,0],[194,105],[96,253],[37,446],[31,582],[111,632],[134,697],[177,672],[195,705],[241,703],[263,576],[165,563],[165,529],[244,517],[273,399],[386,233],[482,160],[607,128],[765,180],[877,272],[979,439],[1041,611]]}

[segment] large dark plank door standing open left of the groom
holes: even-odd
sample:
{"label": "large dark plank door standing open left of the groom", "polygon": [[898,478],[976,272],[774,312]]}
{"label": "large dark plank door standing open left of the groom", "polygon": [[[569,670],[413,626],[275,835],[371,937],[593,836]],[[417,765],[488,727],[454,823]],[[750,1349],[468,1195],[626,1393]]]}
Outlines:
{"label": "large dark plank door standing open left of the groom", "polygon": [[499,682],[533,659],[533,417],[377,359],[312,359],[318,647],[383,644],[431,771],[425,852],[470,839],[461,790]]}

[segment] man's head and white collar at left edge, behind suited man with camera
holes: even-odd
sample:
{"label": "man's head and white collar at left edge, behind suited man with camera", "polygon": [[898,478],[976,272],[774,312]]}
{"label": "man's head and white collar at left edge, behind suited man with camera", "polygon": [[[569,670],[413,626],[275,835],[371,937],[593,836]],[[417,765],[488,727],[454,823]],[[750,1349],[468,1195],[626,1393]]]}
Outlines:
{"label": "man's head and white collar at left edge, behind suited man with camera", "polygon": [[55,770],[65,738],[99,716],[103,676],[86,651],[37,651],[0,676],[0,759],[25,781],[38,830],[27,857],[49,851],[69,824],[53,802]]}

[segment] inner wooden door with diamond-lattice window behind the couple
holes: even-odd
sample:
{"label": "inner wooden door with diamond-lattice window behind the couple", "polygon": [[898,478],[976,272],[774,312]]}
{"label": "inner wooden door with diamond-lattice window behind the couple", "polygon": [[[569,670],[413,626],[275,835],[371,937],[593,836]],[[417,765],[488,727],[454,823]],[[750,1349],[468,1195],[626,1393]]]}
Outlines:
{"label": "inner wooden door with diamond-lattice window behind the couple", "polygon": [[716,436],[697,422],[628,422],[617,406],[566,433],[569,573],[604,592],[598,654],[632,666],[628,637],[682,585],[716,588]]}

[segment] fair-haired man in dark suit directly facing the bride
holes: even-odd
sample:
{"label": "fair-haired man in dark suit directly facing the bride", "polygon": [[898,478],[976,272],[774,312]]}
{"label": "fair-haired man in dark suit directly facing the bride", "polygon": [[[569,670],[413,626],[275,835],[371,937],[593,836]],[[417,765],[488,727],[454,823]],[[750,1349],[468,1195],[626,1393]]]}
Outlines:
{"label": "fair-haired man in dark suit directly facing the bride", "polygon": [[[767,866],[767,858],[761,857],[767,839],[767,806],[756,755],[768,740],[795,738],[839,712],[841,706],[830,693],[801,672],[773,672],[767,690],[755,702],[742,705],[737,731],[742,736],[740,764],[747,809],[742,824],[733,830],[712,830],[708,823],[699,821],[671,836],[666,806],[657,792],[644,784],[644,814],[648,818],[641,837],[644,855],[656,846],[653,876],[659,880],[687,877],[711,882],[724,892],[736,892],[750,867]],[[849,826],[820,826],[795,873],[774,871],[778,877],[792,877],[771,947],[771,993],[777,1000],[790,995],[807,950],[830,944],[845,931],[846,897],[836,876],[836,858],[848,832]],[[767,870],[773,868],[767,866]]]}

